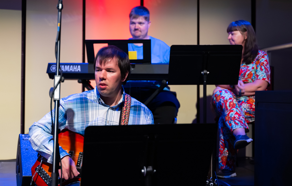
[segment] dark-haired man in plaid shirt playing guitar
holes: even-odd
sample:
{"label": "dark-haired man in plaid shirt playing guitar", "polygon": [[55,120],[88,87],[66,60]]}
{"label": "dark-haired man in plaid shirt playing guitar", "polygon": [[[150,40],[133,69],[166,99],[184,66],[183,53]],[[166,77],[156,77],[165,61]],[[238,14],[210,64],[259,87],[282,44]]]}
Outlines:
{"label": "dark-haired man in plaid shirt playing guitar", "polygon": [[[101,48],[94,60],[96,87],[92,91],[69,95],[60,100],[59,129],[84,135],[87,126],[153,124],[152,112],[124,92],[130,72],[128,55],[118,47]],[[53,118],[54,118],[54,111]],[[53,119],[54,120],[54,119]],[[53,162],[51,112],[29,128],[32,148],[48,163]],[[75,162],[60,147],[62,178],[78,176]],[[59,175],[60,175],[59,169]],[[61,176],[60,176],[61,177]]]}

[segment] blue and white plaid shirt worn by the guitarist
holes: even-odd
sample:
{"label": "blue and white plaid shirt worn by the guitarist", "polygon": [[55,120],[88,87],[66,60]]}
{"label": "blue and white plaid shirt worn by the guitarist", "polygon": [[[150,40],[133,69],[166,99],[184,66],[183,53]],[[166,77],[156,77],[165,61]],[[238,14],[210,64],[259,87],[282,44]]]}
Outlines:
{"label": "blue and white plaid shirt worn by the guitarist", "polygon": [[[122,88],[123,89],[123,88]],[[92,91],[69,95],[60,100],[59,129],[69,129],[83,134],[88,126],[119,125],[121,106],[125,92],[119,103],[113,107],[106,105],[95,87]],[[52,111],[53,120],[55,109]],[[152,112],[135,98],[131,98],[128,125],[154,124]],[[51,135],[51,112],[29,127],[29,141],[32,148],[53,163],[53,136]],[[60,147],[61,158],[68,153]]]}

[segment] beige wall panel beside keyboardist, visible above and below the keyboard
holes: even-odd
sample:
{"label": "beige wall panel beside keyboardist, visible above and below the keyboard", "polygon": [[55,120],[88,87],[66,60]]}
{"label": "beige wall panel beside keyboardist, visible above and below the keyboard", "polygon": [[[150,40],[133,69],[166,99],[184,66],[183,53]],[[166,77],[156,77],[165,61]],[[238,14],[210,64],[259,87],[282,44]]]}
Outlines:
{"label": "beige wall panel beside keyboardist, visible above and below the keyboard", "polygon": [[[197,45],[197,1],[145,0],[150,11],[151,26],[148,35],[167,45]],[[182,67],[184,68],[184,67]],[[196,85],[171,85],[180,102],[178,123],[192,123],[197,113]]]}

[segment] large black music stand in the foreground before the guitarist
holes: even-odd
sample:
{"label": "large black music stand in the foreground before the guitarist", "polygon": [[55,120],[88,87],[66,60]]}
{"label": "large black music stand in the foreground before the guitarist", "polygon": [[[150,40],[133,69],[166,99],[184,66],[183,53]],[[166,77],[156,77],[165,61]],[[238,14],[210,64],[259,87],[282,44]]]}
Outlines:
{"label": "large black music stand in the foreground before the guitarist", "polygon": [[81,186],[203,186],[217,125],[89,126],[84,137]]}

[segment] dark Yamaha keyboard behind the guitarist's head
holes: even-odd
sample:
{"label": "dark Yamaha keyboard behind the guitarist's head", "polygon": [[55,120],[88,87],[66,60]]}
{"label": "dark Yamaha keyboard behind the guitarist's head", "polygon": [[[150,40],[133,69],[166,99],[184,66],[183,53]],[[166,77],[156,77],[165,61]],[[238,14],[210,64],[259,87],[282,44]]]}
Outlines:
{"label": "dark Yamaha keyboard behind the guitarist's head", "polygon": [[[65,79],[95,79],[92,63],[60,63]],[[47,74],[54,79],[56,63],[48,63]],[[168,64],[131,64],[129,80],[167,80]]]}

